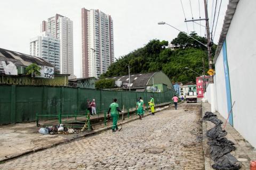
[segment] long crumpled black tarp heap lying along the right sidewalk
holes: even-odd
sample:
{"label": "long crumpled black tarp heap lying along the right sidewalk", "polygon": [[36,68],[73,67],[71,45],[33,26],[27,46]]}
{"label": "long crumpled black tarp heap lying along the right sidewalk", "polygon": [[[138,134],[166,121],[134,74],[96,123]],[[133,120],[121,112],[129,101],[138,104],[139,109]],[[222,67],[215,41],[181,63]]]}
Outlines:
{"label": "long crumpled black tarp heap lying along the right sidewalk", "polygon": [[207,144],[210,146],[210,156],[214,161],[212,168],[217,170],[240,169],[241,164],[233,155],[230,154],[230,152],[235,150],[236,147],[234,147],[234,142],[225,138],[227,132],[221,128],[221,124],[223,122],[212,112],[206,112],[203,120],[210,121],[215,124],[214,128],[206,132],[206,136],[209,139]]}

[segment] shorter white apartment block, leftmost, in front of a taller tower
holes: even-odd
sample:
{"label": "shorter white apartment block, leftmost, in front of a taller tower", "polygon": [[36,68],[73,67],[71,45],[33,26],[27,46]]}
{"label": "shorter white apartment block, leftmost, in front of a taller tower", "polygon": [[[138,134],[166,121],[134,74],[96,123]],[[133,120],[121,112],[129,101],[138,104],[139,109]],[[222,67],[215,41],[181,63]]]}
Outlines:
{"label": "shorter white apartment block, leftmost, in front of a taller tower", "polygon": [[30,55],[44,58],[60,70],[60,40],[47,31],[30,39]]}

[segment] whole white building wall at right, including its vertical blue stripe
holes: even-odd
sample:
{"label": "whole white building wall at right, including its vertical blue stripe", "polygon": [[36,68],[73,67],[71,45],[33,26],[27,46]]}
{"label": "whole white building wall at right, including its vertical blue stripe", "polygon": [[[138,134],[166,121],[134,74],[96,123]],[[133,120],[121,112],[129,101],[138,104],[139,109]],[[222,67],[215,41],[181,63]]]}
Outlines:
{"label": "whole white building wall at right, including its vertical blue stripe", "polygon": [[[207,99],[212,112],[218,111],[253,147],[256,147],[256,114],[251,90],[256,63],[256,22],[245,18],[256,17],[256,1],[229,0],[218,47],[213,59],[215,64],[214,83],[207,86]],[[255,95],[254,95],[255,94]]]}

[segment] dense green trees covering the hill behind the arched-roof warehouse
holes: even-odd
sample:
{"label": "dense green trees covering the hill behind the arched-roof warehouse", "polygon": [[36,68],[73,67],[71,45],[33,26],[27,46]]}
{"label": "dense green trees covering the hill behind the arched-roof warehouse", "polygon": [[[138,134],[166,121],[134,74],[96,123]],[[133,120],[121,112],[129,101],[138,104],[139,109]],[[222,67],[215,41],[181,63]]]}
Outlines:
{"label": "dense green trees covering the hill behind the arched-roof warehouse", "polygon": [[[203,44],[207,42],[206,38],[197,36],[195,32],[191,32],[190,36]],[[183,32],[180,32],[171,43],[175,47],[174,50],[166,48],[168,41],[150,40],[144,47],[116,60],[115,63],[109,66],[108,71],[101,75],[101,78],[127,75],[128,65],[130,65],[132,74],[162,70],[172,82],[195,81],[198,75],[185,69],[185,67],[189,67],[202,75],[203,72],[199,68],[203,67],[202,58],[204,58],[205,70],[207,70],[208,57],[206,47],[189,38]],[[214,45],[212,52],[215,52],[215,48],[216,46]]]}

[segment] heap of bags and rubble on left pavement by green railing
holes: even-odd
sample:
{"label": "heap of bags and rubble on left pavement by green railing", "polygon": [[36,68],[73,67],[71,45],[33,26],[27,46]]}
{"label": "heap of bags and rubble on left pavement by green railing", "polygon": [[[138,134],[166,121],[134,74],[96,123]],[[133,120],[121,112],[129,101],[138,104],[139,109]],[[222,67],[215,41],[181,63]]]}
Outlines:
{"label": "heap of bags and rubble on left pavement by green railing", "polygon": [[63,126],[63,124],[60,125],[56,125],[56,126],[49,126],[46,128],[40,128],[39,133],[41,134],[58,134],[58,133],[62,133],[62,134],[70,134],[70,133],[75,133],[78,132],[72,128],[65,128]]}

